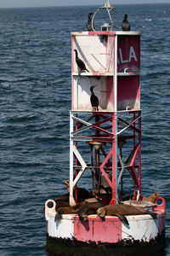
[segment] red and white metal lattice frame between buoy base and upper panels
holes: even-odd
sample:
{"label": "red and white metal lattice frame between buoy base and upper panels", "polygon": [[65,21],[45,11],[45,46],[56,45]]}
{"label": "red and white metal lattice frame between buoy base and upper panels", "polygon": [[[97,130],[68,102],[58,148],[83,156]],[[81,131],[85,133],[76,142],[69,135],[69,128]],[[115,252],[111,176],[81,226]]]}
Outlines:
{"label": "red and white metal lattice frame between buoy base and upper panels", "polygon": [[[93,32],[95,34],[95,32]],[[99,35],[99,32],[96,32]],[[141,110],[127,107],[126,110],[117,110],[117,37],[121,32],[111,32],[114,38],[114,66],[112,72],[113,84],[113,111],[89,111],[74,110],[70,111],[70,204],[75,205],[77,198],[74,199],[73,190],[77,188],[77,183],[86,170],[102,173],[105,180],[111,187],[110,204],[118,203],[118,186],[122,182],[122,174],[127,170],[133,180],[133,199],[136,196],[141,198]],[[76,33],[77,35],[77,33]],[[87,35],[87,34],[85,34]],[[133,35],[133,32],[132,32]],[[139,34],[138,34],[139,35]],[[77,43],[76,43],[77,45]],[[111,44],[112,45],[112,44]],[[80,48],[80,46],[79,46]],[[111,61],[111,60],[110,60]],[[123,77],[136,75],[129,72],[128,68],[121,73]],[[73,68],[72,68],[72,73]],[[76,75],[75,73],[73,75]],[[84,77],[85,73],[80,76]],[[88,73],[88,76],[98,76],[100,73]],[[108,74],[111,76],[111,73]],[[139,75],[139,74],[137,74]],[[107,76],[107,73],[104,74]],[[79,79],[77,79],[78,81]],[[89,86],[89,81],[87,79]],[[90,117],[88,115],[90,114]],[[125,116],[125,117],[124,117]],[[129,118],[130,117],[130,118]],[[94,131],[94,134],[93,134]],[[127,133],[126,133],[127,132]],[[130,154],[126,160],[122,159],[122,144],[133,140]],[[84,160],[79,150],[79,142],[88,143],[91,148],[95,147],[97,160],[95,165],[89,165]],[[107,145],[107,150],[105,146]],[[110,150],[108,148],[110,146]],[[96,158],[96,156],[95,156]],[[119,166],[117,166],[119,164]],[[111,178],[108,177],[111,174]],[[136,191],[138,190],[138,191]]]}

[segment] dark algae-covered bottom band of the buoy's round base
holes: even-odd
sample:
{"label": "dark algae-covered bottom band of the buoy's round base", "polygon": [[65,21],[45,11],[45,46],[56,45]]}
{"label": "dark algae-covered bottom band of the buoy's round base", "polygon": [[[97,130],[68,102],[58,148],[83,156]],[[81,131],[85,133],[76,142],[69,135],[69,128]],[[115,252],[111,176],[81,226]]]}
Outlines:
{"label": "dark algae-covered bottom band of the buoy's round base", "polygon": [[93,241],[86,243],[82,241],[71,240],[70,238],[54,238],[47,235],[47,250],[48,253],[50,253],[50,256],[156,256],[163,254],[164,248],[164,234],[154,240],[151,240],[150,242],[121,241],[113,244],[96,244]]}

